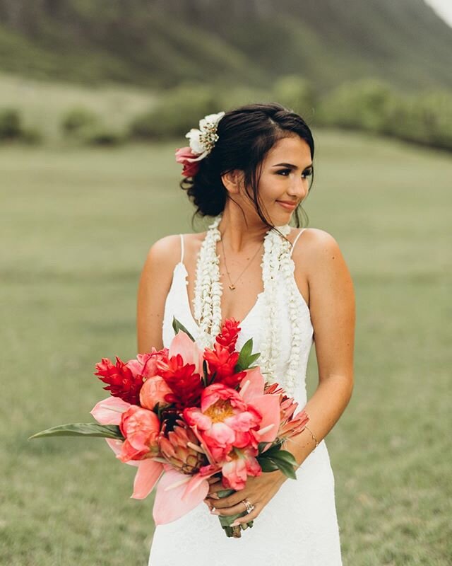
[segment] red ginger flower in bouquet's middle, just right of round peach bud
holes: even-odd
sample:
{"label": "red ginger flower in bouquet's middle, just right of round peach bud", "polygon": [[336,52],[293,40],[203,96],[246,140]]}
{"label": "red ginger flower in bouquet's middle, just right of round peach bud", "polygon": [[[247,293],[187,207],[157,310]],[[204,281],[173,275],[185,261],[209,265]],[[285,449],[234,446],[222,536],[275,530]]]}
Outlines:
{"label": "red ginger flower in bouquet's middle, just right of round peach bud", "polygon": [[195,372],[195,364],[184,364],[181,354],[177,354],[170,358],[162,357],[157,362],[157,369],[172,391],[165,395],[167,403],[174,403],[179,410],[199,403],[203,382]]}

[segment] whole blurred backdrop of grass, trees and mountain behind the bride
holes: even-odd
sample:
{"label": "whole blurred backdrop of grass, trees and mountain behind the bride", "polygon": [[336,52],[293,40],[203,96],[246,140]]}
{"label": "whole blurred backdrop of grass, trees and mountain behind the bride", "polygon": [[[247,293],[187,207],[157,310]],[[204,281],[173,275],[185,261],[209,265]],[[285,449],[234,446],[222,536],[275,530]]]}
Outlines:
{"label": "whole blurred backdrop of grass, trees and mountain behind the bride", "polygon": [[149,247],[205,226],[185,133],[270,100],[313,131],[308,225],[355,282],[326,439],[344,565],[452,564],[451,25],[448,0],[0,0],[1,565],[147,564],[135,468],[28,437],[91,420],[95,363],[136,355]]}

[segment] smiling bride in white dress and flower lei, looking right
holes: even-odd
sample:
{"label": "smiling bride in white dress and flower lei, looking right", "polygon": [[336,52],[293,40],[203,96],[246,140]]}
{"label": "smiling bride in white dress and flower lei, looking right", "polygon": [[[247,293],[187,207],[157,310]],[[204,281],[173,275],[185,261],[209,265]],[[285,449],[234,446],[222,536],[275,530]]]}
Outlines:
{"label": "smiling bride in white dress and flower lei, looking right", "polygon": [[[178,149],[181,187],[201,216],[203,233],[165,236],[150,248],[138,287],[138,352],[167,347],[175,316],[202,345],[226,318],[240,321],[240,349],[253,338],[256,363],[309,415],[285,446],[297,480],[279,470],[249,477],[244,490],[219,499],[210,480],[205,504],[157,525],[150,566],[338,566],[335,485],[324,438],[352,395],[355,298],[338,243],[328,232],[299,228],[310,190],[314,139],[306,122],[278,103],[208,115]],[[291,226],[290,222],[297,224]],[[260,259],[260,261],[259,261]],[[305,378],[315,344],[319,385],[307,400]],[[218,514],[254,519],[227,538]]]}

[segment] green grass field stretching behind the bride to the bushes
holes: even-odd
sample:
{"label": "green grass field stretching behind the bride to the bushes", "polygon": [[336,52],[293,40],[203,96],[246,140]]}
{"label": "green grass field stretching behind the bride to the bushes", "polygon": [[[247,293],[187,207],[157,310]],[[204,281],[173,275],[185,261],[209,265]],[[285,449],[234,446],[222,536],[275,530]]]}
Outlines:
{"label": "green grass field stretching behind the bride to the bushes", "polygon": [[[314,134],[309,225],[337,239],[357,296],[355,391],[327,438],[344,566],[450,565],[452,163]],[[147,250],[191,231],[179,145],[0,149],[1,565],[147,564],[135,468],[102,439],[27,439],[90,420],[95,362],[135,356]],[[312,392],[314,350],[308,379]]]}

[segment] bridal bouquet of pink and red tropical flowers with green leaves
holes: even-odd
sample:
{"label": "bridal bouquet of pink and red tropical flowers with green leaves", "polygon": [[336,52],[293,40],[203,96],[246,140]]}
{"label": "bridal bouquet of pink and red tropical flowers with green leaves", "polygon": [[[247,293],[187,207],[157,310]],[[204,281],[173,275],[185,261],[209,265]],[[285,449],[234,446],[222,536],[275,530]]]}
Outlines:
{"label": "bridal bouquet of pink and red tropical flowers with green leaves", "polygon": [[[252,339],[235,350],[239,322],[226,320],[213,349],[204,351],[176,318],[173,328],[169,348],[96,364],[95,375],[110,393],[91,411],[99,424],[63,424],[30,437],[105,437],[121,462],[137,468],[131,497],[147,497],[158,483],[157,525],[203,502],[213,475],[225,487],[219,497],[262,472],[279,469],[295,479],[295,458],[281,445],[308,422],[278,383],[265,383],[253,365],[259,354],[252,353]],[[230,526],[245,514],[219,516],[227,536],[252,526]]]}

